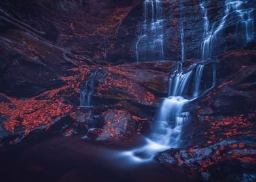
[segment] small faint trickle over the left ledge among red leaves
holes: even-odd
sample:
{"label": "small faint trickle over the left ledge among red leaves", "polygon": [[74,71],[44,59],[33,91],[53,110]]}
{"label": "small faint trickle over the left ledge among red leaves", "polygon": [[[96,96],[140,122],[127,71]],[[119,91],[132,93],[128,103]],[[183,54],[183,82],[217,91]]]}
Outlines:
{"label": "small faint trickle over the left ledge among red leaves", "polygon": [[95,87],[95,75],[91,73],[88,80],[80,86],[80,107],[92,107],[91,96]]}

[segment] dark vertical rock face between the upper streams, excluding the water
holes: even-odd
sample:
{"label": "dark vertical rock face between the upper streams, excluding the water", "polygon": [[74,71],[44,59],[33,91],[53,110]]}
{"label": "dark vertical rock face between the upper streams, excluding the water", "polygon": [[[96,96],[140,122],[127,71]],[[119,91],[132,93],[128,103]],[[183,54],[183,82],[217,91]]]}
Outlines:
{"label": "dark vertical rock face between the upper streams, excluding the water", "polygon": [[[207,11],[208,31],[217,31],[221,25],[221,19],[225,16],[227,6],[224,0],[221,1],[164,1],[165,36],[164,52],[166,60],[177,60],[181,56],[181,29],[184,29],[185,57],[187,59],[200,58],[200,49],[204,41],[204,9],[200,5],[204,2]],[[241,1],[242,2],[242,1]],[[249,7],[255,6],[255,2],[248,1],[244,8],[250,11]],[[231,12],[234,9],[230,9]],[[140,13],[139,13],[140,12]],[[118,27],[117,38],[114,46],[110,47],[109,57],[112,61],[126,59],[136,60],[135,44],[138,40],[138,30],[143,19],[143,2],[138,3],[121,21]],[[246,45],[246,34],[240,29],[240,19],[237,12],[229,14],[225,18],[223,33],[217,36],[217,43],[214,45],[213,56],[219,55],[232,49],[241,49]],[[255,10],[251,12],[252,21],[256,24]],[[239,34],[239,38],[238,38]]]}

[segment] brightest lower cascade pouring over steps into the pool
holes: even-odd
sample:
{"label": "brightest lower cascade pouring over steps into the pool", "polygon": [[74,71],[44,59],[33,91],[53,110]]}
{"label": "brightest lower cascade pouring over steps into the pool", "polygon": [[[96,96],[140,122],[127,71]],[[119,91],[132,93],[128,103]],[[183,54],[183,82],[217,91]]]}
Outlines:
{"label": "brightest lower cascade pouring over steps into the pool", "polygon": [[[170,75],[168,82],[168,98],[165,98],[157,122],[153,126],[153,133],[146,138],[146,144],[131,151],[125,151],[122,155],[128,156],[135,162],[151,161],[159,152],[168,148],[178,148],[182,144],[181,135],[184,124],[189,120],[189,112],[184,106],[208,92],[215,86],[216,70],[213,68],[213,80],[210,88],[200,90],[200,82],[204,64],[192,64],[186,71],[180,66]],[[187,88],[192,88],[189,93]]]}

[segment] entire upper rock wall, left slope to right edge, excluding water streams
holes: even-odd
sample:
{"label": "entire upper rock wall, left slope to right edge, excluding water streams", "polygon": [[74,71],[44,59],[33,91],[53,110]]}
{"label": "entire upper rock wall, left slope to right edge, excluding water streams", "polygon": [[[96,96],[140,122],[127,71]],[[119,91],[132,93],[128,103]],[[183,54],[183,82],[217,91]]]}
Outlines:
{"label": "entire upper rock wall, left slope to right edge, excluding water streams", "polygon": [[[143,2],[138,1],[1,1],[1,30],[20,29],[25,25],[54,45],[65,47],[75,55],[92,57],[94,62],[135,62],[135,44],[143,19]],[[185,56],[200,58],[204,40],[204,9],[209,21],[208,31],[216,31],[225,16],[225,1],[163,1],[165,28],[164,52],[166,60],[180,57],[181,29],[184,29]],[[244,10],[256,25],[256,12],[246,1]],[[93,8],[91,8],[93,7]],[[234,10],[234,8],[231,10]],[[230,10],[230,11],[231,11]],[[242,12],[244,12],[242,10]],[[57,18],[54,18],[57,17]],[[225,28],[217,36],[213,55],[223,50],[245,47],[245,32],[237,12],[225,18]],[[243,15],[247,20],[248,14]],[[11,22],[11,23],[10,23]],[[249,21],[248,21],[249,22]],[[251,23],[253,23],[251,22]],[[24,24],[25,23],[25,24]],[[250,30],[249,30],[250,31]],[[250,42],[250,41],[249,41]],[[254,46],[250,44],[248,46]],[[246,46],[246,47],[248,47]],[[97,47],[95,49],[95,47]]]}

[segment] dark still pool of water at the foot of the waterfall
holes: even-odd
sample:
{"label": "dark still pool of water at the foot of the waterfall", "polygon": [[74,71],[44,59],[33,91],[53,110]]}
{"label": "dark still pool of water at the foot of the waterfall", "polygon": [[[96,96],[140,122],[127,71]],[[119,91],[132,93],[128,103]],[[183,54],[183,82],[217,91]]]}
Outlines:
{"label": "dark still pool of water at the foot of the waterfall", "polygon": [[[112,147],[113,148],[113,147]],[[1,181],[190,181],[151,161],[127,163],[119,151],[79,136],[52,136],[0,148]]]}

